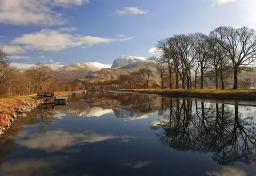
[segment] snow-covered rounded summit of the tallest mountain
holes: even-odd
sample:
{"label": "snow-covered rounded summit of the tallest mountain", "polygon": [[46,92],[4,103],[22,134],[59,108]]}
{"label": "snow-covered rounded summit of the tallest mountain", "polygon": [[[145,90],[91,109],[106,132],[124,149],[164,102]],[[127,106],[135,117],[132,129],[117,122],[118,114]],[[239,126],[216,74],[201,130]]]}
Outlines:
{"label": "snow-covered rounded summit of the tallest mountain", "polygon": [[119,58],[117,58],[114,62],[111,68],[120,68],[120,67],[124,67],[126,65],[129,65],[131,63],[139,63],[142,61],[146,61],[147,58],[145,57],[135,57],[135,56],[121,56]]}

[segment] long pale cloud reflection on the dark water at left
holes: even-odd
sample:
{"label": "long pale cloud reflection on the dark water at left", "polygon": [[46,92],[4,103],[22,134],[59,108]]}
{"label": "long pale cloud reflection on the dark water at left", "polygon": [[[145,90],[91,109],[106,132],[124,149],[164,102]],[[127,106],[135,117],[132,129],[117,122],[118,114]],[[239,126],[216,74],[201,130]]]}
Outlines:
{"label": "long pale cloud reflection on the dark water at left", "polygon": [[23,132],[20,138],[15,140],[20,146],[42,149],[46,151],[58,151],[66,147],[82,145],[85,143],[95,143],[111,139],[134,139],[134,137],[111,134],[95,134],[95,133],[71,133],[68,131],[47,131],[45,133],[29,133]]}

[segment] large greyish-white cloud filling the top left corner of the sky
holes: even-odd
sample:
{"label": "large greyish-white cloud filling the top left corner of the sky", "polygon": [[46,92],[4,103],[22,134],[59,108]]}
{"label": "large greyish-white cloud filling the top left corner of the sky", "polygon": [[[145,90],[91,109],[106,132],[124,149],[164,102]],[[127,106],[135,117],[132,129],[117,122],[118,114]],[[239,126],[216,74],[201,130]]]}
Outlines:
{"label": "large greyish-white cloud filling the top left corner of the sky", "polygon": [[63,14],[54,7],[81,6],[88,0],[1,0],[0,22],[13,25],[63,25]]}

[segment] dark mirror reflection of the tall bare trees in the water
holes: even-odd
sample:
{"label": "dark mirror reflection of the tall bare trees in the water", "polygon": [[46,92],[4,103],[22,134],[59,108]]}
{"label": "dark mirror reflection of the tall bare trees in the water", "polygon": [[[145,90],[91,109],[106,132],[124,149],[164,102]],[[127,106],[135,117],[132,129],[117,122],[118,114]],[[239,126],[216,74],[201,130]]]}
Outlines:
{"label": "dark mirror reflection of the tall bare trees in the water", "polygon": [[151,126],[163,145],[181,151],[211,152],[213,160],[223,165],[256,161],[254,107],[179,99],[170,99],[167,105],[165,101],[163,98],[158,113],[161,119]]}

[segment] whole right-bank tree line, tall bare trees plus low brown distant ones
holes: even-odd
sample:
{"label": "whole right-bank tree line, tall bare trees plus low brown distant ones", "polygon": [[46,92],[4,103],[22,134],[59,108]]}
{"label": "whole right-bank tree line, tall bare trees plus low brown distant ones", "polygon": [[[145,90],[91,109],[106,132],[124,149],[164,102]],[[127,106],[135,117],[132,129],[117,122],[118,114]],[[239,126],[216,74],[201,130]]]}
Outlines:
{"label": "whole right-bank tree line, tall bare trees plus low brown distant ones", "polygon": [[208,35],[173,35],[157,42],[156,53],[158,57],[149,58],[158,64],[154,72],[141,69],[84,85],[89,89],[205,89],[210,83],[223,90],[231,84],[233,89],[246,89],[256,82],[255,77],[238,79],[242,71],[251,72],[256,61],[256,33],[249,27],[221,26]]}

